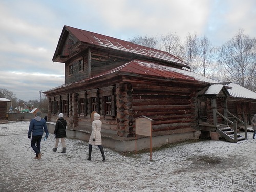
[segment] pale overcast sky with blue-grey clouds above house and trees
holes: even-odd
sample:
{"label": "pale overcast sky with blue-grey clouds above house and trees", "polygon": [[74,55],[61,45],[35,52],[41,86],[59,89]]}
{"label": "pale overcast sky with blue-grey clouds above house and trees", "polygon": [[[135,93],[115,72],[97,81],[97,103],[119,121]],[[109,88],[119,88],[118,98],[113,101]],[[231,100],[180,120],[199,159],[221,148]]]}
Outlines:
{"label": "pale overcast sky with blue-grey clouds above house and trees", "polygon": [[0,0],[0,88],[24,101],[64,83],[52,61],[64,25],[122,40],[176,32],[220,46],[239,30],[255,37],[255,0]]}

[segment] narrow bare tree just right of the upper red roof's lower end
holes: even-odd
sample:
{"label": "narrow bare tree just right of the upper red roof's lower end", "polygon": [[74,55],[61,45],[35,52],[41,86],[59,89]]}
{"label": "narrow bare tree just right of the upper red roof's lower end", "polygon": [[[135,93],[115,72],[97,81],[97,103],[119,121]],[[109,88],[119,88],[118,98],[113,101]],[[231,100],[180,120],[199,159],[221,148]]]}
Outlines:
{"label": "narrow bare tree just right of the upper red roof's lower end", "polygon": [[197,57],[197,35],[188,33],[185,41],[185,61],[190,66],[190,71],[195,71],[197,66],[195,63]]}

